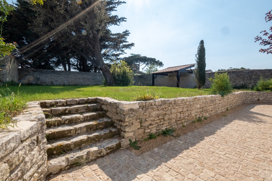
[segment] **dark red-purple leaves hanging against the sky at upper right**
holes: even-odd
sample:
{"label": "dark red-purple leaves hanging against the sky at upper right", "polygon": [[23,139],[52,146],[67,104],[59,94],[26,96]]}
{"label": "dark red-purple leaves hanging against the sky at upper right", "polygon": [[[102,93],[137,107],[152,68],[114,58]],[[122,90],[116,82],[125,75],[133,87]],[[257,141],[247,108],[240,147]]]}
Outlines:
{"label": "dark red-purple leaves hanging against the sky at upper right", "polygon": [[[265,14],[266,15],[265,16],[265,21],[266,22],[272,21],[271,11],[269,11],[268,13]],[[272,26],[269,28],[269,30],[272,32]],[[261,37],[261,36],[257,36],[257,37],[254,38],[255,42],[261,41],[260,45],[269,46],[269,47],[265,48],[265,49],[260,49],[259,52],[263,52],[263,53],[267,53],[267,54],[272,53],[272,34],[268,33],[266,30],[261,31],[260,33],[263,33],[262,35],[264,37],[267,37],[267,39],[264,38],[264,37]]]}

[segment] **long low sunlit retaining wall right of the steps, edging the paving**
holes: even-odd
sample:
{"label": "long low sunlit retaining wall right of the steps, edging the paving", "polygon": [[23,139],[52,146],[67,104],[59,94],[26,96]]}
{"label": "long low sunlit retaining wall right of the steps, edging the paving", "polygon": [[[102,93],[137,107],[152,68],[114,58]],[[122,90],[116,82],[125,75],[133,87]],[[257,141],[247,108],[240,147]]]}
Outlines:
{"label": "long low sunlit retaining wall right of the steps, edging the paving", "polygon": [[150,133],[179,128],[198,116],[209,117],[244,103],[272,103],[272,92],[235,92],[225,97],[209,95],[134,102],[98,97],[97,101],[102,103],[102,109],[120,130],[121,144],[125,147],[129,138],[143,140]]}

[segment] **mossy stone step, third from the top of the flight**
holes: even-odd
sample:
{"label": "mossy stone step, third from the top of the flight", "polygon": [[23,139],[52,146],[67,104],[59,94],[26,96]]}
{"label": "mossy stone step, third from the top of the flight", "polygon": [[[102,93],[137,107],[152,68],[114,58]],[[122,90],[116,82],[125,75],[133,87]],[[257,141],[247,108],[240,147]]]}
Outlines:
{"label": "mossy stone step, third from the top of the flight", "polygon": [[47,128],[52,128],[52,127],[56,127],[60,125],[73,124],[77,122],[92,121],[102,117],[105,117],[105,112],[102,112],[102,111],[87,112],[87,113],[81,113],[81,114],[68,114],[65,116],[59,116],[55,118],[47,118],[46,126]]}

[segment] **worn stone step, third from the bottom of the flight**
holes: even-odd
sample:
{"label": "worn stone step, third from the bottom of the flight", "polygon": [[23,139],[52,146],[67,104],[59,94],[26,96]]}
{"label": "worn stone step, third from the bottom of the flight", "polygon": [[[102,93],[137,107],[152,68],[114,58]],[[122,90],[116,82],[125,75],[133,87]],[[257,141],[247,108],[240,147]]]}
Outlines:
{"label": "worn stone step, third from the bottom of the flight", "polygon": [[101,118],[96,121],[88,121],[83,123],[73,123],[70,125],[62,125],[46,130],[47,141],[56,140],[65,137],[80,135],[92,132],[98,129],[106,129],[113,126],[113,121],[108,118]]}

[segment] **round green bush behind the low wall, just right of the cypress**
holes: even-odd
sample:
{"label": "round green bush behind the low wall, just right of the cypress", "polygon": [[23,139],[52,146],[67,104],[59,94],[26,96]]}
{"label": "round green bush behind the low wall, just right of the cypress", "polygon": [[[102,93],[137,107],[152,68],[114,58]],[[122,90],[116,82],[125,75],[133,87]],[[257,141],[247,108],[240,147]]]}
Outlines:
{"label": "round green bush behind the low wall, just right of the cypress", "polygon": [[232,92],[232,84],[227,73],[218,74],[215,72],[214,79],[209,78],[209,80],[212,82],[211,94],[224,96]]}

